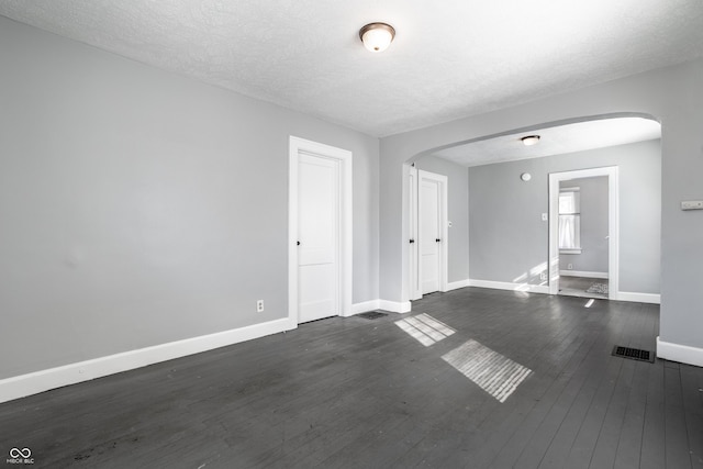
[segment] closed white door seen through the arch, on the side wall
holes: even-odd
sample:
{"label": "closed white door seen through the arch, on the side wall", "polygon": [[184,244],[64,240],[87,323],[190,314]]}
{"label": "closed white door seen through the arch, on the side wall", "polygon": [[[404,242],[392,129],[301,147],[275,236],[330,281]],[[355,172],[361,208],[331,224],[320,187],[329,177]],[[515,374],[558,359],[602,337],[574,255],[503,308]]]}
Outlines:
{"label": "closed white door seen through the arch, on the side wall", "polygon": [[420,178],[420,276],[422,293],[439,290],[440,194],[439,182]]}

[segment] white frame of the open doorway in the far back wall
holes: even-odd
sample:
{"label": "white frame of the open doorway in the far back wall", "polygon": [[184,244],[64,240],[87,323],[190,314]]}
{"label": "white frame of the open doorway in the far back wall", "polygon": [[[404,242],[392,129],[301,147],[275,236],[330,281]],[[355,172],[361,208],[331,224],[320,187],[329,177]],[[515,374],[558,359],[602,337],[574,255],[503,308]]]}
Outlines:
{"label": "white frame of the open doorway in the far back wall", "polygon": [[620,293],[620,191],[617,166],[551,172],[549,175],[549,294],[559,293],[559,183],[572,179],[607,176],[609,299]]}

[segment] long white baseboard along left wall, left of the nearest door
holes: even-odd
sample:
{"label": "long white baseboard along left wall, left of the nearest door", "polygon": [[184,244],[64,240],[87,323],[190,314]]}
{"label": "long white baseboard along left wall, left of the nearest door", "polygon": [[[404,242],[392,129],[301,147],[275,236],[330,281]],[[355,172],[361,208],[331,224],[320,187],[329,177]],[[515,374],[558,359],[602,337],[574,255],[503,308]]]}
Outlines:
{"label": "long white baseboard along left wall, left of the nearest door", "polygon": [[295,327],[298,327],[297,323],[284,317],[7,378],[0,380],[0,402],[291,331]]}

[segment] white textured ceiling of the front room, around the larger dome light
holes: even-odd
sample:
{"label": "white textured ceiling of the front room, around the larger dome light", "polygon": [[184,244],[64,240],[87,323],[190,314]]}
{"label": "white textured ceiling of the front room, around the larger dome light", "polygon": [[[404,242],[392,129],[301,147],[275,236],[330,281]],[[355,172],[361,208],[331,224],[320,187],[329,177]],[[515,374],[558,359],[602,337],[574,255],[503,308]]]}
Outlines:
{"label": "white textured ceiling of the front room, around the larger dome light", "polygon": [[[702,0],[0,0],[0,14],[384,136],[703,56]],[[391,23],[382,54],[358,30]]]}

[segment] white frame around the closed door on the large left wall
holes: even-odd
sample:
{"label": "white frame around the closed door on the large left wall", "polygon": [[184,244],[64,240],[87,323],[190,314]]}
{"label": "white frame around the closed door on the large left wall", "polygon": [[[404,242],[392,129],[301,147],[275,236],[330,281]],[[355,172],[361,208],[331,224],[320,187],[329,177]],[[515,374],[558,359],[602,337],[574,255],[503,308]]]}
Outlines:
{"label": "white frame around the closed door on the large left wall", "polygon": [[339,315],[352,315],[352,152],[290,136],[288,185],[288,320],[291,327],[298,314],[298,164],[301,153],[339,161]]}

